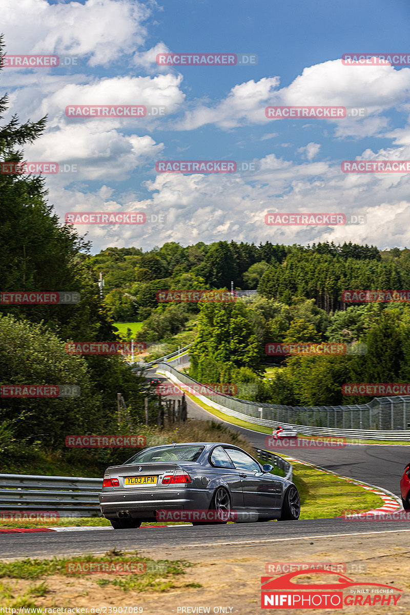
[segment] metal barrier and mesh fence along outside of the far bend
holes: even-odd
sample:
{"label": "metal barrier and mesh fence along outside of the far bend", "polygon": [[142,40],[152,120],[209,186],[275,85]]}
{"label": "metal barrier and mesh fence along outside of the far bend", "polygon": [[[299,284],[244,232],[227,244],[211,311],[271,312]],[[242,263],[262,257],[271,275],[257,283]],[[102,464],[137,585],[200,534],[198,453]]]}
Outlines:
{"label": "metal barrier and mesh fence along outside of the far bend", "polygon": [[[176,384],[200,384],[168,363],[157,363],[157,371]],[[376,397],[363,405],[299,408],[250,402],[218,392],[212,399],[197,397],[228,416],[267,427],[295,427],[305,435],[410,440],[410,397]]]}

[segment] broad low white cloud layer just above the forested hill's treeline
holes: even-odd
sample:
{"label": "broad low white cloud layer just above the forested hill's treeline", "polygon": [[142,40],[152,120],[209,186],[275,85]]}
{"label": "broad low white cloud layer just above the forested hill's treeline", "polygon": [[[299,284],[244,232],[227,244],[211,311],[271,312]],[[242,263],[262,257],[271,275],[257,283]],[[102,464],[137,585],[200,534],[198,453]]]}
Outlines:
{"label": "broad low white cloud layer just above the forested hill's treeline", "polygon": [[[395,153],[365,151],[362,156],[410,158],[410,148]],[[164,173],[144,185],[151,197],[143,200],[129,194],[126,199],[113,202],[111,192],[96,195],[57,191],[50,196],[57,197],[54,202],[60,215],[62,205],[67,211],[70,203],[71,210],[79,211],[145,211],[167,215],[165,226],[88,227],[96,251],[108,245],[149,248],[170,240],[184,245],[231,239],[257,244],[265,240],[285,244],[351,240],[380,248],[410,245],[409,175],[347,175],[338,164],[296,164],[269,154],[254,173],[208,176]],[[269,212],[364,214],[367,223],[334,228],[273,227],[264,223],[264,216]],[[84,232],[85,227],[79,227],[79,231]]]}

